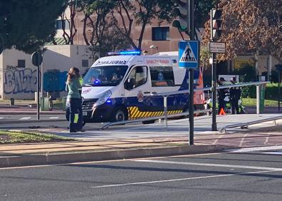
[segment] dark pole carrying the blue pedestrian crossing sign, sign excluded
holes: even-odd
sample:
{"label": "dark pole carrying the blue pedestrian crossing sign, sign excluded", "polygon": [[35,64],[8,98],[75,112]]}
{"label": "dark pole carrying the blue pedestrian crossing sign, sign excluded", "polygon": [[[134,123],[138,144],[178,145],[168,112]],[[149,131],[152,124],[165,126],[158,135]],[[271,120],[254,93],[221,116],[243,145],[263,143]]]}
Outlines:
{"label": "dark pole carrying the blue pedestrian crossing sign, sign excluded", "polygon": [[[194,40],[194,0],[189,0],[190,40]],[[194,69],[189,68],[189,145],[194,145]]]}

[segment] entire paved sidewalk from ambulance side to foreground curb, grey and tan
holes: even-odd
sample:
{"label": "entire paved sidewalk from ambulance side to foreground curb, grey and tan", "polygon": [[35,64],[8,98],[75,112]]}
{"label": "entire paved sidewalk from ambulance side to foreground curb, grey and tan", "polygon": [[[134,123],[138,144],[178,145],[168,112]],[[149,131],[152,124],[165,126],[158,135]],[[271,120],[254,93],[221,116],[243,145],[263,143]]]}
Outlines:
{"label": "entire paved sidewalk from ambulance side to foreground curb, grey and tan", "polygon": [[[218,116],[218,129],[224,125],[275,117],[271,115]],[[68,133],[62,128],[26,128],[23,131],[53,133],[76,141],[61,143],[26,143],[0,146],[0,167],[48,165],[83,161],[120,160],[167,155],[211,153],[223,149],[282,145],[282,126],[260,123],[251,130],[231,129],[229,133],[210,131],[211,117],[194,120],[194,145],[188,145],[187,119],[169,120],[151,125],[120,125],[107,130],[85,126],[85,133]],[[9,128],[11,129],[11,128]]]}

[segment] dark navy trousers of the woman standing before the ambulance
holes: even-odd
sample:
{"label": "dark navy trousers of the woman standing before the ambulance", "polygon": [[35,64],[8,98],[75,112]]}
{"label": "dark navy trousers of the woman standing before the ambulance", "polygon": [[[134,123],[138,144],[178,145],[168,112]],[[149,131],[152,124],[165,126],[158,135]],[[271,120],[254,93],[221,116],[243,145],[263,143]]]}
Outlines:
{"label": "dark navy trousers of the woman standing before the ambulance", "polygon": [[[78,114],[78,123],[74,123],[75,114]],[[80,98],[70,98],[70,119],[68,122],[70,131],[83,128],[83,111]]]}

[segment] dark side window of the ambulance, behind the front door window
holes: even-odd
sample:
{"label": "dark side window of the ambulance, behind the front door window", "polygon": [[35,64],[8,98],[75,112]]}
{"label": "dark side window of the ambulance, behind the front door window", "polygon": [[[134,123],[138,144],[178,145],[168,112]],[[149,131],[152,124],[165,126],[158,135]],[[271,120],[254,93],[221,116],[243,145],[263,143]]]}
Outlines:
{"label": "dark side window of the ambulance, behind the front door window", "polygon": [[174,86],[172,66],[150,66],[152,87]]}

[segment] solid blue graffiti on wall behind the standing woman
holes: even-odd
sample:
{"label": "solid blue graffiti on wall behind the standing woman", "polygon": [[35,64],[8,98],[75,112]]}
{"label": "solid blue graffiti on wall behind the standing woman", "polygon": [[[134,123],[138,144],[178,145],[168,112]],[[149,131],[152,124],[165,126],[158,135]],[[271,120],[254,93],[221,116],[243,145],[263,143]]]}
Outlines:
{"label": "solid blue graffiti on wall behind the standing woman", "polygon": [[57,69],[49,70],[43,74],[44,91],[65,91],[66,88],[66,71],[58,71]]}

